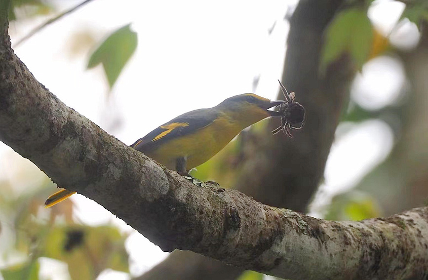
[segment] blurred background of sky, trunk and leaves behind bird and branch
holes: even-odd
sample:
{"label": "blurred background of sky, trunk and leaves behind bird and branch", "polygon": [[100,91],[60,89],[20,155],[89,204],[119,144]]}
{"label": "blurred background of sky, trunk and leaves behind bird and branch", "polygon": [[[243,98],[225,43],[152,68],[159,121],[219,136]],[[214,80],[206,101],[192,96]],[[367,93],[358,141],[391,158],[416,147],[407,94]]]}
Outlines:
{"label": "blurred background of sky, trunk and leaves behind bird and branch", "polygon": [[[261,121],[196,178],[332,220],[426,204],[425,0],[12,0],[9,18],[36,79],[127,145],[236,94],[276,99],[277,79],[296,92],[294,140]],[[0,143],[0,279],[273,279],[164,253],[80,195],[45,209],[56,190]]]}

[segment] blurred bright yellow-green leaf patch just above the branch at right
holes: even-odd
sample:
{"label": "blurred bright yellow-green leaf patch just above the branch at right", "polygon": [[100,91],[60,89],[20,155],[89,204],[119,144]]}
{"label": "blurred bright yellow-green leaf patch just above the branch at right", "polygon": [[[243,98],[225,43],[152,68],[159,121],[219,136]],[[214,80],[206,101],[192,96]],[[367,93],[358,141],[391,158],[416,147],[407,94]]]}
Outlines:
{"label": "blurred bright yellow-green leaf patch just above the branch at right", "polygon": [[367,193],[350,190],[333,198],[325,215],[327,220],[363,220],[382,216],[377,201]]}

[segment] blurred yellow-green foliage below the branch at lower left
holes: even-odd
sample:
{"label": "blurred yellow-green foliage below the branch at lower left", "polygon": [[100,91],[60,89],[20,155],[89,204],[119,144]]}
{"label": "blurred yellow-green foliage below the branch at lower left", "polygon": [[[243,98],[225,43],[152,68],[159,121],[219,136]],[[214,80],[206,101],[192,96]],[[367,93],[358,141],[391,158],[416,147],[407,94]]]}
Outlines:
{"label": "blurred yellow-green foliage below the branch at lower left", "polygon": [[[21,168],[20,172],[29,174],[24,178],[24,183],[28,183],[22,194],[16,193],[14,182],[0,183],[1,228],[13,233],[15,240],[9,247],[2,246],[1,251],[6,255],[25,256],[0,270],[5,280],[39,279],[42,257],[66,263],[72,280],[96,279],[105,269],[128,272],[128,254],[124,247],[127,235],[112,225],[76,223],[72,200],[45,209],[43,203],[54,190],[53,184],[34,166]],[[43,178],[41,184],[32,184],[38,177]],[[7,233],[1,238],[7,239]],[[5,244],[4,240],[0,242]]]}

